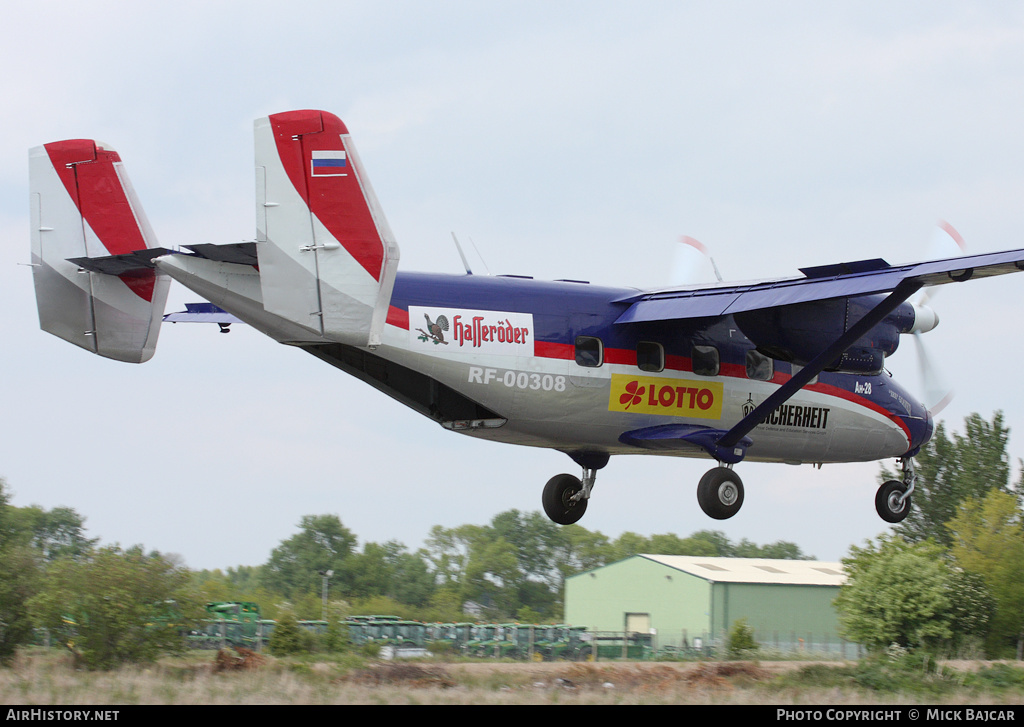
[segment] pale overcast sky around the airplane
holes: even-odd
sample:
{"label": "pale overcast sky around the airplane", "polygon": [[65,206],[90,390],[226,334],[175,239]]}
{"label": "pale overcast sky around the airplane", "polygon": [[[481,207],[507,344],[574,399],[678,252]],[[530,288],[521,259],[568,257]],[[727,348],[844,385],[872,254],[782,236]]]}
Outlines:
{"label": "pale overcast sky around the airplane", "polygon": [[[1016,2],[5,3],[0,27],[0,476],[91,537],[256,565],[302,515],[411,549],[431,526],[540,509],[577,466],[442,430],[245,327],[166,326],[143,366],[44,334],[28,149],[112,144],[160,243],[254,238],[252,122],[314,108],[352,132],[401,269],[640,288],[680,236],[727,279],[1024,247],[1024,6]],[[467,243],[467,248],[471,246]],[[945,286],[930,353],[947,426],[1002,410],[1024,457],[1024,276]],[[170,309],[196,300],[180,287]],[[889,359],[916,387],[914,347]],[[894,462],[887,463],[890,466]],[[823,560],[886,529],[878,464],[741,464],[731,520],[696,504],[705,460],[613,458],[582,525],[719,529]]]}

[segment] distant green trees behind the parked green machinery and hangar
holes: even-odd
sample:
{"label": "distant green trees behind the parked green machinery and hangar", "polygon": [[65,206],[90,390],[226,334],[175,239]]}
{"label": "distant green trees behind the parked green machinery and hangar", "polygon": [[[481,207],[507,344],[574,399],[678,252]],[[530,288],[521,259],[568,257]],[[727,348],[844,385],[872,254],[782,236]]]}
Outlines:
{"label": "distant green trees behind the parked green machinery and hangar", "polygon": [[331,600],[362,613],[425,622],[464,621],[467,609],[487,621],[558,622],[565,579],[638,553],[808,559],[779,541],[732,543],[717,530],[686,538],[625,532],[610,539],[580,525],[557,525],[540,512],[508,510],[488,524],[431,528],[423,547],[367,543],[337,515],[307,515],[259,566],[195,574],[207,600],[252,600],[273,617],[282,604],[300,618],[323,610],[323,573]]}

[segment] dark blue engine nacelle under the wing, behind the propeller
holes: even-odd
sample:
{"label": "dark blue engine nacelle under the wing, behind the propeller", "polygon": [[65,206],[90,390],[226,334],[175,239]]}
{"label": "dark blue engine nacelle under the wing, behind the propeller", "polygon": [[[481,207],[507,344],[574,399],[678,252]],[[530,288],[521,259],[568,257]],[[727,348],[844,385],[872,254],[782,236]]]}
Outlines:
{"label": "dark blue engine nacelle under the wing, behind the propeller", "polygon": [[[883,298],[874,295],[798,303],[735,313],[733,318],[765,355],[807,366]],[[877,374],[882,371],[885,357],[899,346],[901,333],[929,331],[937,323],[930,308],[903,303],[826,366],[825,371]]]}

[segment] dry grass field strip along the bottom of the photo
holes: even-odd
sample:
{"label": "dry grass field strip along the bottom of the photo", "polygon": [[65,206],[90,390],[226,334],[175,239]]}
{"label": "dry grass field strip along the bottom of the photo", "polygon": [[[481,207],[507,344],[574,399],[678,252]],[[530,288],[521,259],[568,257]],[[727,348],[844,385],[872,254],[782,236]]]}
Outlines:
{"label": "dry grass field strip along the bottom of the photo", "polygon": [[[0,703],[108,704],[1020,704],[1024,667],[855,662],[372,662],[212,652],[115,672],[30,651],[0,669]],[[920,670],[920,671],[915,671]]]}

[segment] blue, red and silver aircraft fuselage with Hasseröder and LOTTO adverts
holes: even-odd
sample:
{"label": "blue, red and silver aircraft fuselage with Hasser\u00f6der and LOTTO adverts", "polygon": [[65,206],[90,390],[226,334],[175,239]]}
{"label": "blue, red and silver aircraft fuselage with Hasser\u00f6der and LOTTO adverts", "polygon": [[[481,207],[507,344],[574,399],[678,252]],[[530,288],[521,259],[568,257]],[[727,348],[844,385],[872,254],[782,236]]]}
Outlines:
{"label": "blue, red and silver aircraft fuselage with Hasser\u00f6der and LOTTO adverts", "polygon": [[[169,259],[207,268],[197,276],[160,265],[200,295],[449,429],[574,458],[707,457],[696,444],[629,433],[668,424],[727,430],[795,369],[759,355],[732,316],[616,325],[636,290],[519,276],[399,272],[381,345],[359,349],[262,311],[259,273],[251,267]],[[211,280],[225,275],[232,282]],[[902,457],[931,432],[925,408],[888,373],[822,372],[754,429],[745,459]]]}

